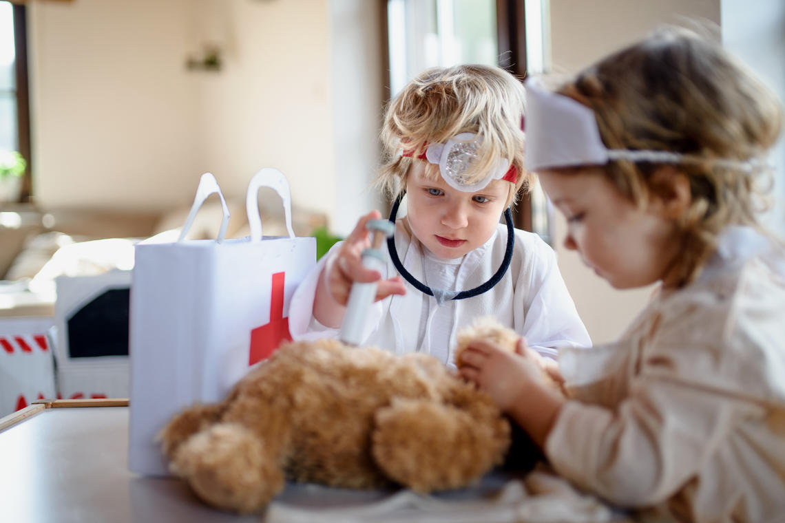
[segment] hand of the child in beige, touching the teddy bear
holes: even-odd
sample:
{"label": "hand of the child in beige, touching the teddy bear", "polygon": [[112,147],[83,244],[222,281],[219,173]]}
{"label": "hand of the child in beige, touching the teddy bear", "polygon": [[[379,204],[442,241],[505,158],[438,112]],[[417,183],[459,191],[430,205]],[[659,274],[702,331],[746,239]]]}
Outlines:
{"label": "hand of the child in beige, touching the teddy bear", "polygon": [[477,340],[461,354],[460,373],[490,394],[502,410],[509,411],[526,401],[532,384],[546,386],[542,359],[523,338],[518,340],[514,354],[495,343]]}

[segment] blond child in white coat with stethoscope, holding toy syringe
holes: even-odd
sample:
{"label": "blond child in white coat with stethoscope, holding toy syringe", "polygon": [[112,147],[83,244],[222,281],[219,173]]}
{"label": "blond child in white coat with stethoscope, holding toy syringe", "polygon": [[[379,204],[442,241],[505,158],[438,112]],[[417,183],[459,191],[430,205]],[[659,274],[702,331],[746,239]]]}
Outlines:
{"label": "blond child in white coat with stethoscope, holding toy syringe", "polygon": [[[543,354],[589,345],[553,249],[513,229],[509,215],[528,181],[523,107],[523,85],[498,67],[435,68],[404,87],[382,129],[386,162],[378,181],[396,202],[389,261],[379,274],[360,260],[369,243],[365,224],[380,217],[374,211],[298,287],[292,336],[337,336],[352,283],[378,281],[362,345],[451,364],[456,330],[484,315]],[[396,219],[404,194],[407,212]]]}

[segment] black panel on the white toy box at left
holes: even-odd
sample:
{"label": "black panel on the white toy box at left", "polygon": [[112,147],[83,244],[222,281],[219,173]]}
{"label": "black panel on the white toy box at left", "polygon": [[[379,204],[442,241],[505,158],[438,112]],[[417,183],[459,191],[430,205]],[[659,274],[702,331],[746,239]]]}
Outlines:
{"label": "black panel on the white toy box at left", "polygon": [[68,319],[71,358],[128,355],[129,289],[111,289]]}

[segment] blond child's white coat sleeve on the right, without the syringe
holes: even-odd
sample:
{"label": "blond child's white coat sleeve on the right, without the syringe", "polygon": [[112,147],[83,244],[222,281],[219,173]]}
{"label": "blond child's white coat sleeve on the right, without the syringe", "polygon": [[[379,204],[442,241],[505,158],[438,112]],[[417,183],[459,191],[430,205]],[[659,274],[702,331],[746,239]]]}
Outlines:
{"label": "blond child's white coat sleeve on the right, without the syringe", "polygon": [[523,307],[521,335],[529,347],[548,358],[556,358],[559,347],[591,347],[589,332],[561,277],[556,253],[541,240],[528,242],[526,248],[536,252],[528,253],[531,267],[524,267],[518,275],[517,289],[524,296],[516,300],[516,307]]}

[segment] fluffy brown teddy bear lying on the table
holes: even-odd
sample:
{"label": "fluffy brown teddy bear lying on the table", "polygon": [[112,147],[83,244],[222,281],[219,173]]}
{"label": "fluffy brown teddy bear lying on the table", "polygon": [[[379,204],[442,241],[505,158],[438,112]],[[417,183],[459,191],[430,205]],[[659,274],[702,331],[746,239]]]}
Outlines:
{"label": "fluffy brown teddy bear lying on the table", "polygon": [[[476,336],[509,350],[518,338],[486,321],[460,333],[456,353]],[[491,398],[436,358],[322,339],[279,347],[224,401],[170,419],[159,440],[172,473],[203,501],[250,513],[287,480],[466,486],[502,463],[510,434]]]}

